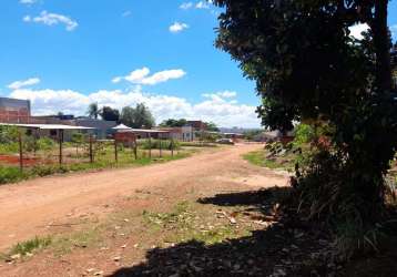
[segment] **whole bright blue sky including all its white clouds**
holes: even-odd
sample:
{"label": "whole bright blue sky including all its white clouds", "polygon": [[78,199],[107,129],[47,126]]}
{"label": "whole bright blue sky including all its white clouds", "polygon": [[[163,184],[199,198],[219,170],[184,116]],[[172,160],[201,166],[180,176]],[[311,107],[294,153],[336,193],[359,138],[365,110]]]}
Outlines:
{"label": "whole bright blue sky including all its white clouds", "polygon": [[[214,47],[220,10],[211,3],[2,0],[0,10],[0,95],[30,99],[34,115],[143,102],[157,123],[259,126],[255,83]],[[389,13],[397,38],[397,0]]]}

